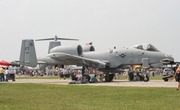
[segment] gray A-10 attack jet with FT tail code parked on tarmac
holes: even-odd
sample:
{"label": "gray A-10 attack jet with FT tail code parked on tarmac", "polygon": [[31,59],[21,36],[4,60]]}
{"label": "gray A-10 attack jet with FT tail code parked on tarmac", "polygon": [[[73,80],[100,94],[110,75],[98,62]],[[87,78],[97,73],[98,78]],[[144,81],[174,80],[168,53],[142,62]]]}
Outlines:
{"label": "gray A-10 attack jet with FT tail code parked on tarmac", "polygon": [[142,65],[148,67],[163,63],[174,62],[174,58],[160,52],[151,44],[139,44],[129,48],[122,47],[107,51],[94,51],[92,45],[83,48],[81,45],[56,46],[50,50],[47,56],[36,57],[33,39],[22,40],[20,65],[36,67],[37,63],[47,65],[81,65],[98,68],[106,72],[106,81],[113,79],[109,72],[119,72],[120,68],[127,65]]}

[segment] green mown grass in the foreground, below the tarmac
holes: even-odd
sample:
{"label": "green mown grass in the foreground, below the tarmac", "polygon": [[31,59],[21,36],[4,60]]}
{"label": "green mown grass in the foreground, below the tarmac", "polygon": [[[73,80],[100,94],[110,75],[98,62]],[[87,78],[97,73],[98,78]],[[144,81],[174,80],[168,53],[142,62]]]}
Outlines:
{"label": "green mown grass in the foreground, below the tarmac", "polygon": [[179,110],[180,102],[175,88],[13,83],[0,87],[0,110]]}

